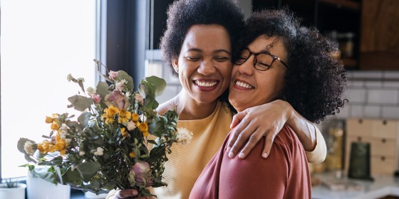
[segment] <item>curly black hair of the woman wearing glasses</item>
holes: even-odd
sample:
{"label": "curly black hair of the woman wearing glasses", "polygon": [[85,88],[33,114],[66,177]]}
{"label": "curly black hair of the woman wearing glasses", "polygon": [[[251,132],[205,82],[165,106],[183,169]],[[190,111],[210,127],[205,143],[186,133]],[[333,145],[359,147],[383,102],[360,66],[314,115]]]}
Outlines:
{"label": "curly black hair of the woman wearing glasses", "polygon": [[280,99],[289,102],[299,114],[319,123],[348,102],[343,98],[346,70],[336,41],[322,36],[314,27],[301,26],[286,7],[253,13],[247,19],[242,48],[261,35],[280,38],[286,48],[289,68]]}

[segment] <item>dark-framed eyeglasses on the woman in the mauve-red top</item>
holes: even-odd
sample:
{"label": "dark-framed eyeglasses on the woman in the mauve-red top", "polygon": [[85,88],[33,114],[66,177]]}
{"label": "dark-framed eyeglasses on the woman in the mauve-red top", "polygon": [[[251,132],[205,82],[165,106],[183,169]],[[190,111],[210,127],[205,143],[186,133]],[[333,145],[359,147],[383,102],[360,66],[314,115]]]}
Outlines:
{"label": "dark-framed eyeglasses on the woman in the mauve-red top", "polygon": [[284,63],[276,55],[271,55],[267,51],[254,53],[251,52],[248,48],[244,48],[244,50],[241,51],[239,58],[236,61],[234,61],[234,64],[242,65],[251,57],[251,55],[254,55],[254,68],[257,70],[261,71],[268,70],[269,68],[271,68],[271,65],[273,65],[275,60],[279,60],[283,65],[286,66],[286,68],[288,68],[288,65],[286,65],[286,63]]}

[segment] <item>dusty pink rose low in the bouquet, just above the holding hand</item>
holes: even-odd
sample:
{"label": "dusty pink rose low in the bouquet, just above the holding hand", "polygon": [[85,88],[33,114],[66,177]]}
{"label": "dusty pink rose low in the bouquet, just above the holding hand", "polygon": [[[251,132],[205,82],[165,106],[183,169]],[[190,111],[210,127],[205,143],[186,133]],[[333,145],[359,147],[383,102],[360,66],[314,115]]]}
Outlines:
{"label": "dusty pink rose low in the bouquet, just above the holding hand", "polygon": [[147,185],[153,183],[150,165],[146,161],[135,163],[130,169],[129,177],[133,178],[136,183],[146,183]]}

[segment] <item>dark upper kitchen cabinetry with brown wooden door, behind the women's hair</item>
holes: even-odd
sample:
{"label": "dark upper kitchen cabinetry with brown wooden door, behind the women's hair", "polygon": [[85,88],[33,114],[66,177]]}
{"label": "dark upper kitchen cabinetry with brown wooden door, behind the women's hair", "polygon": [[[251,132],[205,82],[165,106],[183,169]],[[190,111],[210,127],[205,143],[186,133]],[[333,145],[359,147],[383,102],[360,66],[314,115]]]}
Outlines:
{"label": "dark upper kitchen cabinetry with brown wooden door, behind the women's hair", "polygon": [[252,6],[288,6],[302,25],[338,41],[348,70],[399,70],[398,0],[252,0]]}

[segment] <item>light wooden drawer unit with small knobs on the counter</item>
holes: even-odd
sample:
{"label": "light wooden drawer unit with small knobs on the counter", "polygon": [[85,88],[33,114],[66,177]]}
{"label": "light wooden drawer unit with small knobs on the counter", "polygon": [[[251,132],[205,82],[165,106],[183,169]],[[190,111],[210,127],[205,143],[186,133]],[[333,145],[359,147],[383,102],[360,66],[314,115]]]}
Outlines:
{"label": "light wooden drawer unit with small knobs on the counter", "polygon": [[347,119],[345,170],[349,168],[352,142],[371,145],[371,176],[388,175],[398,169],[399,122],[383,119]]}

